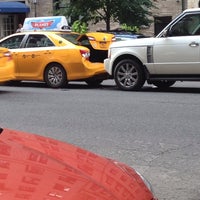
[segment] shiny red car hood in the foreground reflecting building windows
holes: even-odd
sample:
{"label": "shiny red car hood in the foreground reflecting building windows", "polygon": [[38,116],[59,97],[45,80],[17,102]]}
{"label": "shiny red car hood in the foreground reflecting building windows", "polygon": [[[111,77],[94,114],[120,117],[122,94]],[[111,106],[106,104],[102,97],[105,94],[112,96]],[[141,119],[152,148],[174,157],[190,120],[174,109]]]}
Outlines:
{"label": "shiny red car hood in the foreground reflecting building windows", "polygon": [[51,138],[4,129],[1,200],[153,200],[130,167]]}

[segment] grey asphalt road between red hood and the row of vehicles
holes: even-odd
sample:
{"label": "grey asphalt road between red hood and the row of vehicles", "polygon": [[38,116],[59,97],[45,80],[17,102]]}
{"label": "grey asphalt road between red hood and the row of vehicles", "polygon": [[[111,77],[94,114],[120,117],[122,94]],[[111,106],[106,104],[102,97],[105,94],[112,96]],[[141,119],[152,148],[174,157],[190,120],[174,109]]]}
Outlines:
{"label": "grey asphalt road between red hood and the row of vehicles", "polygon": [[159,200],[200,200],[200,83],[119,91],[70,83],[0,87],[1,126],[37,133],[124,162]]}

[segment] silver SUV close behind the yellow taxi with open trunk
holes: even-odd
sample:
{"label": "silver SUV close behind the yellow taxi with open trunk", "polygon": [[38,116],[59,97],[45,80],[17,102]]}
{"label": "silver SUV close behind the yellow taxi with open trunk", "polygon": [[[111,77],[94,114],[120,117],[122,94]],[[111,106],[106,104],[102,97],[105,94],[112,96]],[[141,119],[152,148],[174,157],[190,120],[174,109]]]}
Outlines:
{"label": "silver SUV close behind the yellow taxi with open trunk", "polygon": [[185,10],[155,38],[112,43],[104,66],[121,90],[200,81],[200,9]]}

